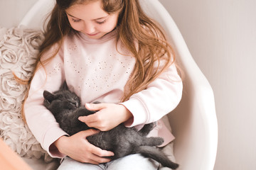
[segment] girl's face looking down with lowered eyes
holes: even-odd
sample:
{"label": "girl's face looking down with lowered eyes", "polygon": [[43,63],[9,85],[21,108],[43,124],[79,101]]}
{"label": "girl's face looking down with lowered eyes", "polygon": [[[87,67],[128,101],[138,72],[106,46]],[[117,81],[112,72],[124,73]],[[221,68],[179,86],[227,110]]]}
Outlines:
{"label": "girl's face looking down with lowered eyes", "polygon": [[102,1],[75,4],[66,10],[68,21],[74,30],[89,38],[102,38],[117,26],[119,13],[111,15],[102,9]]}

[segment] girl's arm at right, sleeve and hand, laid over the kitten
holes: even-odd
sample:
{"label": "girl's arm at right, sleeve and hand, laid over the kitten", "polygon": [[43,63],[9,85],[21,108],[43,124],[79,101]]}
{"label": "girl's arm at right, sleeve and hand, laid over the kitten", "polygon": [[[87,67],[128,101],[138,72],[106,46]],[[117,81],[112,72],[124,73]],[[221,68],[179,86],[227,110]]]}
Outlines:
{"label": "girl's arm at right, sleeve and hand, laid over the kitten", "polygon": [[173,111],[181,100],[182,81],[176,67],[171,65],[148,88],[134,94],[128,101],[119,104],[86,104],[97,113],[81,116],[80,121],[102,131],[110,130],[120,123],[128,127],[152,123]]}

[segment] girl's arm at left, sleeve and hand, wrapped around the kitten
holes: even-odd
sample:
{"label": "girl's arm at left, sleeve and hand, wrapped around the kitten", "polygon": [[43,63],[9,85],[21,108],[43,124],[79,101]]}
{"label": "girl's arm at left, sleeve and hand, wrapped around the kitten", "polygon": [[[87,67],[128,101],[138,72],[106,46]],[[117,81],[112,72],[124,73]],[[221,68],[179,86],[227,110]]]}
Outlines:
{"label": "girl's arm at left, sleeve and hand, wrapped around the kitten", "polygon": [[[46,56],[51,54],[53,50],[49,50]],[[110,157],[113,155],[112,152],[104,151],[87,142],[86,137],[92,135],[93,132],[88,130],[67,137],[68,134],[59,127],[53,114],[43,106],[43,91],[57,91],[64,80],[63,59],[59,52],[45,67],[40,67],[36,71],[31,81],[28,98],[24,103],[28,127],[51,157],[62,158],[68,155],[82,162],[94,164],[109,162],[109,159],[101,158],[101,156]],[[81,151],[85,153],[80,155]],[[91,157],[92,155],[94,157]]]}

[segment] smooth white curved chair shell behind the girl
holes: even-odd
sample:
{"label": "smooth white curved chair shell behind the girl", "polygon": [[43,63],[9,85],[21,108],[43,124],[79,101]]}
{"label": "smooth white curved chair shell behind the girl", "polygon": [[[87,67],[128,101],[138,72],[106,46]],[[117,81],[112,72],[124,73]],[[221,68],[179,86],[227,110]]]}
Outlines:
{"label": "smooth white curved chair shell behind the girl", "polygon": [[[185,74],[183,97],[169,113],[176,140],[174,153],[181,170],[212,170],[218,143],[218,125],[213,90],[194,62],[186,42],[173,19],[158,0],[140,0],[144,11],[158,21],[174,47],[178,63]],[[43,28],[43,20],[55,0],[38,0],[21,21],[29,28]]]}

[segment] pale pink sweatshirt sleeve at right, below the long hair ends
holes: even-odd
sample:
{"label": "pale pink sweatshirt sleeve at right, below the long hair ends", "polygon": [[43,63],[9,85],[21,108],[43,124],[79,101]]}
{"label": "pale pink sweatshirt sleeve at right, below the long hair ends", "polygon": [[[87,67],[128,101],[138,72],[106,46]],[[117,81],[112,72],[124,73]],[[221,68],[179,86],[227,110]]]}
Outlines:
{"label": "pale pink sweatshirt sleeve at right, below the long hair ends", "polygon": [[125,125],[152,123],[162,118],[178,106],[182,96],[182,81],[174,64],[137,94],[132,95],[128,101],[121,103],[133,115]]}

